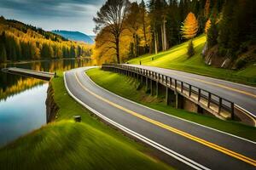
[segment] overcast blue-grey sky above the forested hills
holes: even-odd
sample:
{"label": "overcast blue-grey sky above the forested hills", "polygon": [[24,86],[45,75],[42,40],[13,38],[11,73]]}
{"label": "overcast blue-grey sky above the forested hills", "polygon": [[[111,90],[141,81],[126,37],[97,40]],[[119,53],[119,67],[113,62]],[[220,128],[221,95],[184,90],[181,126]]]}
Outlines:
{"label": "overcast blue-grey sky above the forested hills", "polygon": [[[47,31],[82,31],[93,35],[92,18],[106,0],[0,0],[0,15]],[[139,1],[140,2],[140,1]]]}

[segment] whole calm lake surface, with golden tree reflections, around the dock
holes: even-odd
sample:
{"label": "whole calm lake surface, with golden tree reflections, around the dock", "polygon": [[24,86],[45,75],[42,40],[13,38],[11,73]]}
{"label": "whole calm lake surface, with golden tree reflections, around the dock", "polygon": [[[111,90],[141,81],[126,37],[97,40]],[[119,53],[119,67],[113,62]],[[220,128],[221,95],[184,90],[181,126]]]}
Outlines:
{"label": "whole calm lake surface, with golden tree reflections, around the dock", "polygon": [[[87,59],[59,59],[23,64],[0,65],[37,71],[67,71],[90,65]],[[0,147],[46,123],[48,82],[0,71]]]}

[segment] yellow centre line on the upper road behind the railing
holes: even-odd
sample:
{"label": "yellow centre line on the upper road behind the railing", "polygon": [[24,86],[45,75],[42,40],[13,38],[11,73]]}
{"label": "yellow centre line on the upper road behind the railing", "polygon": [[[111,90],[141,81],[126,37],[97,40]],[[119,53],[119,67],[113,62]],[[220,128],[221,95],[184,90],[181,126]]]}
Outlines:
{"label": "yellow centre line on the upper road behind the railing", "polygon": [[248,95],[248,96],[252,96],[253,98],[256,98],[256,94],[250,94],[250,93],[248,93],[248,92],[246,92],[246,91],[239,90],[239,89],[237,89],[237,88],[230,88],[230,87],[224,86],[224,85],[222,85],[222,84],[218,84],[218,83],[216,83],[216,82],[207,82],[207,81],[201,80],[201,79],[199,79],[199,78],[187,77],[187,76],[183,76],[183,75],[178,75],[178,74],[176,74],[176,73],[171,73],[171,74],[172,74],[172,75],[179,76],[179,77],[185,77],[185,78],[188,78],[188,79],[190,79],[190,80],[195,80],[195,81],[199,81],[199,82],[204,82],[204,83],[207,83],[207,84],[211,84],[211,85],[217,86],[217,87],[219,87],[219,88],[229,89],[229,90],[231,90],[231,91],[234,91],[234,92],[237,92],[237,93],[240,93],[240,94],[246,94],[246,95]]}

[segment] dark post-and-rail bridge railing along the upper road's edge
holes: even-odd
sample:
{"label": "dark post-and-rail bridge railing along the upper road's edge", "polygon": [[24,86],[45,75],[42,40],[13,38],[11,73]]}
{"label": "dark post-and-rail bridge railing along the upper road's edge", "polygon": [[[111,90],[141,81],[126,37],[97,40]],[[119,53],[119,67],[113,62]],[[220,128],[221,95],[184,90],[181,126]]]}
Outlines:
{"label": "dark post-and-rail bridge railing along the upper road's edge", "polygon": [[217,94],[212,94],[211,92],[189,84],[188,82],[183,82],[177,78],[169,77],[155,71],[149,71],[147,69],[138,68],[131,65],[103,64],[102,68],[113,69],[113,71],[130,71],[143,77],[148,77],[151,80],[160,82],[162,85],[168,88],[172,88],[187,98],[193,99],[194,101],[196,100],[198,103],[205,105],[207,108],[214,105],[215,108],[218,108],[218,114],[220,114],[221,111],[228,111],[231,119],[234,119],[234,102],[230,101],[229,99],[224,99]]}

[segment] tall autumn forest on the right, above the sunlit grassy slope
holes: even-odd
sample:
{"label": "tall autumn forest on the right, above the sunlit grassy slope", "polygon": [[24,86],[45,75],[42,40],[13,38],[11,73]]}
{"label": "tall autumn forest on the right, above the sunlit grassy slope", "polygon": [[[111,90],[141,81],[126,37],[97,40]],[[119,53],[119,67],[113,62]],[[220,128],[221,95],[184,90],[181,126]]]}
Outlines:
{"label": "tall autumn forest on the right, above the sunlit grassy slope", "polygon": [[193,38],[204,34],[203,56],[238,60],[241,67],[255,61],[255,8],[251,0],[108,0],[94,18],[93,58],[98,64],[122,63],[188,40],[191,57]]}

